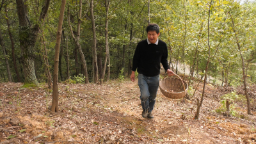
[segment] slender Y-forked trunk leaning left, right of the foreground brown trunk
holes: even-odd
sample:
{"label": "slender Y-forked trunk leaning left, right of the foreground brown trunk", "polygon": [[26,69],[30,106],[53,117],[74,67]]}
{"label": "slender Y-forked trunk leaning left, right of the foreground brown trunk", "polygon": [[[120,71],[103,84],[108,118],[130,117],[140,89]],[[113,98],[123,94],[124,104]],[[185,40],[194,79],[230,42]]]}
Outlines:
{"label": "slender Y-forked trunk leaning left, right of the foreground brown trunk", "polygon": [[72,38],[73,40],[76,42],[76,47],[79,51],[79,54],[80,54],[80,58],[81,58],[81,61],[83,62],[83,75],[85,78],[85,83],[89,83],[89,79],[88,79],[88,72],[87,72],[87,65],[86,65],[86,61],[85,61],[85,58],[84,58],[84,53],[82,51],[82,47],[79,43],[79,39],[80,39],[80,28],[81,28],[81,15],[82,15],[82,0],[80,0],[79,2],[79,13],[78,13],[78,24],[77,24],[77,37],[75,37],[74,35],[74,32],[73,32],[73,29],[72,29],[72,26],[70,24],[70,11],[69,11],[69,7],[68,7],[68,25],[69,25],[69,28],[70,28],[70,32],[71,32],[71,35],[72,35]]}

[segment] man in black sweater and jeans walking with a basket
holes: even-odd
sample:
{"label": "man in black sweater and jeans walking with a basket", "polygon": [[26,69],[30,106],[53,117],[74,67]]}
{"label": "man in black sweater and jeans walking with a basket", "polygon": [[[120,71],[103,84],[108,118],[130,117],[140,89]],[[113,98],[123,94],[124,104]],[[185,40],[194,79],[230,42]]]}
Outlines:
{"label": "man in black sweater and jeans walking with a basket", "polygon": [[169,69],[167,45],[158,39],[160,35],[159,26],[148,24],[147,35],[147,40],[142,40],[136,47],[132,61],[131,81],[135,80],[137,69],[141,106],[143,108],[142,116],[144,118],[154,118],[152,110],[159,87],[160,63],[162,63],[168,76],[172,76],[174,73]]}

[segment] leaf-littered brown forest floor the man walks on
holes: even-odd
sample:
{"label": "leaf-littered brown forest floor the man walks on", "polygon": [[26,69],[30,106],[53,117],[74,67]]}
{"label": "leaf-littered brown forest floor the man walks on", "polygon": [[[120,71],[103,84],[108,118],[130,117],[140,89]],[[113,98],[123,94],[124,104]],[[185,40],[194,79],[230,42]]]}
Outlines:
{"label": "leaf-littered brown forest floor the man walks on", "polygon": [[0,143],[256,143],[255,85],[249,92],[253,115],[246,114],[244,97],[234,100],[235,116],[217,113],[221,96],[235,90],[243,94],[243,86],[207,84],[195,120],[201,83],[192,99],[168,99],[159,90],[155,118],[148,119],[141,116],[137,82],[59,83],[58,113],[48,110],[52,95],[46,84],[0,83]]}

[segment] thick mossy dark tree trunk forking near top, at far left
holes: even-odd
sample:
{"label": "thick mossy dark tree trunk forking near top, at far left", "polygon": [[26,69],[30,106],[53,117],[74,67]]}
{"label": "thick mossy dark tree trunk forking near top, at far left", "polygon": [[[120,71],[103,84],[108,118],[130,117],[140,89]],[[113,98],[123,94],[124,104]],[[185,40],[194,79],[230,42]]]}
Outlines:
{"label": "thick mossy dark tree trunk forking near top, at far left", "polygon": [[[45,0],[39,20],[42,22],[45,19],[49,8],[50,0]],[[31,27],[28,15],[26,15],[27,8],[22,0],[16,0],[17,13],[19,17],[19,41],[24,63],[25,83],[33,83],[38,85],[35,75],[35,42],[38,36],[39,24]]]}

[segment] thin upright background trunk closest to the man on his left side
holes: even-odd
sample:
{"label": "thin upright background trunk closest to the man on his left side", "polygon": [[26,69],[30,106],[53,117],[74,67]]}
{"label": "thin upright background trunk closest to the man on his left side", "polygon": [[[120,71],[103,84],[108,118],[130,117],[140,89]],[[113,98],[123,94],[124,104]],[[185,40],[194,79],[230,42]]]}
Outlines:
{"label": "thin upright background trunk closest to the man on his left side", "polygon": [[[104,60],[104,66],[102,70],[102,77],[100,77],[100,84],[103,84],[104,76],[106,73],[106,66],[108,61],[108,10],[109,10],[109,4],[110,0],[105,0],[105,8],[106,8],[106,19],[105,19],[105,43],[106,43],[106,52],[105,52],[105,60]],[[110,67],[109,67],[110,68]]]}

